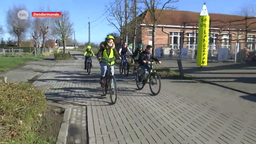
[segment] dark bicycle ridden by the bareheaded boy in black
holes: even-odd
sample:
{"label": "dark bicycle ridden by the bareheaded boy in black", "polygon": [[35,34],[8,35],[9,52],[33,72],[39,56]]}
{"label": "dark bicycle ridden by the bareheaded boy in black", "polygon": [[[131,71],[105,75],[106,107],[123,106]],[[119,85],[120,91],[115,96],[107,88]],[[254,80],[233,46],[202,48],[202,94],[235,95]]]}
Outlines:
{"label": "dark bicycle ridden by the bareheaded boy in black", "polygon": [[[137,79],[136,79],[136,85],[138,87],[138,90],[142,90],[145,86],[145,84],[148,82],[149,80],[149,88],[150,91],[153,95],[157,95],[159,94],[159,92],[161,91],[161,80],[160,80],[160,76],[159,74],[156,72],[156,70],[154,69],[153,64],[156,62],[153,61],[149,61],[148,64],[150,64],[150,68],[149,68],[149,72],[146,75],[143,75],[143,70],[140,69],[139,72],[137,73]],[[153,83],[153,78],[157,79],[157,77],[159,78],[159,89],[157,92],[154,92],[152,90],[154,84],[157,84],[157,80],[156,83]],[[142,86],[140,87],[140,83],[142,83]]]}

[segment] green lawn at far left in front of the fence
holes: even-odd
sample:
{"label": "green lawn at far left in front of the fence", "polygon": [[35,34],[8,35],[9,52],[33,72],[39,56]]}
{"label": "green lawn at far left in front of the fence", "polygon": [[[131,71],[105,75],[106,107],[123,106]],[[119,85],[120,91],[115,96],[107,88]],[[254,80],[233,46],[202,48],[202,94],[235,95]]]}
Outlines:
{"label": "green lawn at far left in front of the fence", "polygon": [[41,60],[46,57],[43,55],[35,56],[33,54],[24,53],[23,55],[1,55],[0,56],[0,72],[6,72],[14,68],[18,68],[21,64],[29,61]]}

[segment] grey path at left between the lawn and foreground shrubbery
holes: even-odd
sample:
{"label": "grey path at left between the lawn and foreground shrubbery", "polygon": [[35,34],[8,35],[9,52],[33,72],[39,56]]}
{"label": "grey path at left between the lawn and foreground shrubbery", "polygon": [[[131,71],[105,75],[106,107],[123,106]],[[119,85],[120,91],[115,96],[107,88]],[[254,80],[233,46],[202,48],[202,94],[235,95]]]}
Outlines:
{"label": "grey path at left between the lawn and foreground shrubbery", "polygon": [[36,79],[40,77],[45,71],[51,68],[56,61],[54,61],[54,55],[48,56],[47,58],[40,61],[30,61],[21,68],[16,68],[8,71],[1,76],[7,76],[8,82],[27,82],[30,79]]}

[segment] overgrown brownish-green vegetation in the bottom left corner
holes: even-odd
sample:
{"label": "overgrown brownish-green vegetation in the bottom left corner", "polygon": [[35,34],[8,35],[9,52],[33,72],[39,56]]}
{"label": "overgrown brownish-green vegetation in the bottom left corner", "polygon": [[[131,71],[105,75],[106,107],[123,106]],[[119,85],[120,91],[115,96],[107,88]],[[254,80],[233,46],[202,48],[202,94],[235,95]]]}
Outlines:
{"label": "overgrown brownish-green vegetation in the bottom left corner", "polygon": [[[48,105],[44,92],[29,83],[0,84],[0,141],[12,144],[47,144],[45,115]],[[51,124],[51,123],[50,123]],[[53,125],[54,126],[54,125]]]}

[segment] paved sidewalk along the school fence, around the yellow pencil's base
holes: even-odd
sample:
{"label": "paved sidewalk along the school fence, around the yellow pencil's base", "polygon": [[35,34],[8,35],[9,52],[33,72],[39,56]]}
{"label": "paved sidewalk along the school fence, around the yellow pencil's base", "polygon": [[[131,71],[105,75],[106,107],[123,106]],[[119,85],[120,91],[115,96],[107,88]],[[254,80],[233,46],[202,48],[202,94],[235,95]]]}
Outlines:
{"label": "paved sidewalk along the school fence, around the yellow pencil's base", "polygon": [[[177,60],[162,59],[159,67],[167,67],[179,71]],[[183,71],[196,79],[206,80],[237,89],[250,94],[256,94],[256,65],[245,63],[208,62],[204,68],[196,66],[196,60],[182,60]]]}

